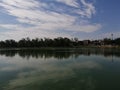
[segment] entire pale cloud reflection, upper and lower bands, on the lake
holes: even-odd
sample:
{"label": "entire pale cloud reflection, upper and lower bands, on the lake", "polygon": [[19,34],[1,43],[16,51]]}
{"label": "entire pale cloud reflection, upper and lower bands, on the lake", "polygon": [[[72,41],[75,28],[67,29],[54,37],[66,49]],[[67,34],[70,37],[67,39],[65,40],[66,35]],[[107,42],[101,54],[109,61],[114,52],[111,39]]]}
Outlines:
{"label": "entire pale cloud reflection, upper and lower bands, on the lake", "polygon": [[[6,58],[8,59],[8,58]],[[21,71],[18,73],[17,78],[9,81],[9,84],[5,90],[14,90],[19,88],[25,88],[29,85],[42,85],[49,80],[51,83],[58,82],[60,80],[70,79],[72,77],[79,77],[78,74],[74,70],[78,70],[79,73],[83,73],[84,69],[89,71],[89,69],[98,69],[100,65],[94,61],[58,61],[54,58],[50,58],[45,60],[42,59],[33,59],[30,58],[29,61],[22,60],[20,57],[11,58],[11,60],[7,60],[7,63],[12,63],[12,66],[3,67],[3,71]],[[29,71],[24,71],[24,69],[31,69]],[[82,72],[80,71],[82,70]],[[80,80],[81,83],[92,84],[90,79]],[[24,89],[22,89],[24,90]]]}

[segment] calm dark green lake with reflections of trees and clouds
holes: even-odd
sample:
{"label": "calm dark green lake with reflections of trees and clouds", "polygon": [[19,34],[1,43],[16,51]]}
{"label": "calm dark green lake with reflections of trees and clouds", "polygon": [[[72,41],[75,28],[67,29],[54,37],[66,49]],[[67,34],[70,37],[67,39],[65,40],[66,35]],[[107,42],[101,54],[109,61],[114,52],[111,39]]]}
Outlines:
{"label": "calm dark green lake with reflections of trees and clouds", "polygon": [[0,90],[120,90],[120,50],[0,50]]}

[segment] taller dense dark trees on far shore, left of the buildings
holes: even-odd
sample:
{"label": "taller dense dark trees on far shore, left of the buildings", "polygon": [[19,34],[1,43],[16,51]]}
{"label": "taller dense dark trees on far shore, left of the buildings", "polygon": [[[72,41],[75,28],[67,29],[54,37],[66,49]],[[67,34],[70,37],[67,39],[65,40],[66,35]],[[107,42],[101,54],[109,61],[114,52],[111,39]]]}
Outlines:
{"label": "taller dense dark trees on far shore, left of the buildings", "polygon": [[29,48],[29,47],[73,47],[78,45],[76,41],[69,38],[23,38],[18,42],[15,40],[0,41],[1,48]]}

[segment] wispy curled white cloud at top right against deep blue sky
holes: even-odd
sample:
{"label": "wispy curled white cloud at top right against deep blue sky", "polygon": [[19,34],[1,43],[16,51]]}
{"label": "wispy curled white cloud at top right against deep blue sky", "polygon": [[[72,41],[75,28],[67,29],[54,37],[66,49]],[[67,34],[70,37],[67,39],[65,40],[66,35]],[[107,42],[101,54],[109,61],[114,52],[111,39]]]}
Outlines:
{"label": "wispy curled white cloud at top right against deep blue sky", "polygon": [[79,4],[77,0],[56,0],[56,1],[62,2],[68,6],[76,7],[77,9],[74,10],[75,13],[88,18],[91,18],[92,15],[95,14],[96,12],[93,3],[87,3],[85,0],[80,0],[82,4]]}

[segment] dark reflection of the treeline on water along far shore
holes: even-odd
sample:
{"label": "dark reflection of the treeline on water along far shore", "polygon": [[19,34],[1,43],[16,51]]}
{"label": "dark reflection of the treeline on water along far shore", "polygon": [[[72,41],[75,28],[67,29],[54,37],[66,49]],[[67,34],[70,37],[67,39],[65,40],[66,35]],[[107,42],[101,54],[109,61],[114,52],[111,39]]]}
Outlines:
{"label": "dark reflection of the treeline on water along far shore", "polygon": [[81,49],[22,49],[22,50],[1,50],[0,55],[14,57],[16,54],[23,58],[50,58],[57,59],[69,58],[79,55],[104,55],[105,57],[117,56],[120,57],[118,49],[102,49],[102,48],[81,48]]}

